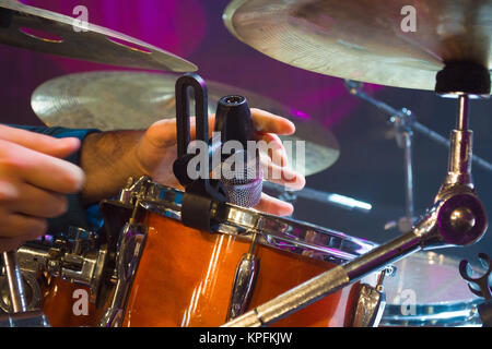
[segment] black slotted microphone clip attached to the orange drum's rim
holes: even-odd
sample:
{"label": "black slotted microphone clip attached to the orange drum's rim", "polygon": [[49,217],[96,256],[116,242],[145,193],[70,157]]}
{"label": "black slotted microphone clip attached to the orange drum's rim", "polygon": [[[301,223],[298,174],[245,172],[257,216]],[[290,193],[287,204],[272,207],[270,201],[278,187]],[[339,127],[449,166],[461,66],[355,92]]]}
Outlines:
{"label": "black slotted microphone clip attached to the orange drum's rim", "polygon": [[[202,231],[212,231],[212,205],[225,202],[224,185],[209,178],[209,171],[198,179],[188,174],[188,165],[197,156],[188,154],[190,144],[190,97],[189,91],[195,93],[196,140],[209,144],[209,108],[207,84],[197,74],[185,74],[176,82],[176,127],[177,127],[177,159],[173,164],[173,172],[179,183],[185,186],[181,204],[181,221],[185,226]],[[204,169],[196,169],[202,173]]]}

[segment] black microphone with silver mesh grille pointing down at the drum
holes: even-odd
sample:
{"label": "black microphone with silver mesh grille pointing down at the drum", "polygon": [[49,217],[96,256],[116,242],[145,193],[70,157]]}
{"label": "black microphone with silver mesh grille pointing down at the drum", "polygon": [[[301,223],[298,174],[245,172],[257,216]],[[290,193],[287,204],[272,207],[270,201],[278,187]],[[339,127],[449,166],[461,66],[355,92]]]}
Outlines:
{"label": "black microphone with silver mesh grille pointing down at the drum", "polygon": [[227,202],[255,207],[261,198],[263,173],[257,147],[248,149],[255,127],[245,97],[234,95],[219,100],[214,130],[220,132],[222,145],[221,164],[213,171],[225,186]]}

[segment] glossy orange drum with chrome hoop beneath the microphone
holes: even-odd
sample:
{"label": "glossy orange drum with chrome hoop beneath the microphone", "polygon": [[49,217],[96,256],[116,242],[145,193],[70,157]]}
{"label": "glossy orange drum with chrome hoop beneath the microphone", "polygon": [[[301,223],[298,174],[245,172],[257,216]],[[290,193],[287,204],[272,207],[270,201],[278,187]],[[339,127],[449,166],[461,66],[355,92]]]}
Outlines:
{"label": "glossy orange drum with chrome hoop beneath the microphone", "polygon": [[[363,239],[229,204],[215,207],[216,232],[179,221],[183,192],[152,184],[142,201],[147,242],[129,292],[124,326],[216,327],[229,317],[242,257],[259,261],[249,308],[374,248]],[[356,300],[344,288],[276,326],[347,326]]]}

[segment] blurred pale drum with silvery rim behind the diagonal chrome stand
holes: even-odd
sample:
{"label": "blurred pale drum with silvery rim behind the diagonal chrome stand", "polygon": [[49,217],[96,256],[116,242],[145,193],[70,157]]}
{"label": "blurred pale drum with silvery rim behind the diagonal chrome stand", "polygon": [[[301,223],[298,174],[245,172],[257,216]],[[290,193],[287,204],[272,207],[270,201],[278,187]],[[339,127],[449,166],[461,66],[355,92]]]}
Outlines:
{"label": "blurred pale drum with silvery rim behind the diagonal chrome stand", "polygon": [[483,300],[459,275],[459,260],[419,252],[395,266],[395,277],[384,284],[387,304],[382,326],[481,326],[477,306]]}

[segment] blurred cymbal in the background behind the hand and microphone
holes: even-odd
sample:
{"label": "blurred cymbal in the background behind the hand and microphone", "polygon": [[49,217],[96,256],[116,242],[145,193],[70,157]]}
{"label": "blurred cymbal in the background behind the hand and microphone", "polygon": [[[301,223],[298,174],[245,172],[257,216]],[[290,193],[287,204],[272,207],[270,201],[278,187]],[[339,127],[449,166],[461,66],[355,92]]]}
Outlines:
{"label": "blurred cymbal in the background behind the hand and microphone", "polygon": [[[36,88],[32,96],[34,112],[47,125],[74,129],[136,130],[155,121],[176,117],[175,74],[143,72],[91,72],[65,75]],[[284,105],[263,96],[207,82],[209,112],[226,95],[243,95],[251,108],[268,110],[290,119],[296,133],[284,141],[305,141],[304,166],[296,157],[293,142],[290,165],[305,176],[324,171],[340,156],[340,146],[331,132],[315,120],[296,118]],[[304,169],[304,170],[303,170]]]}

